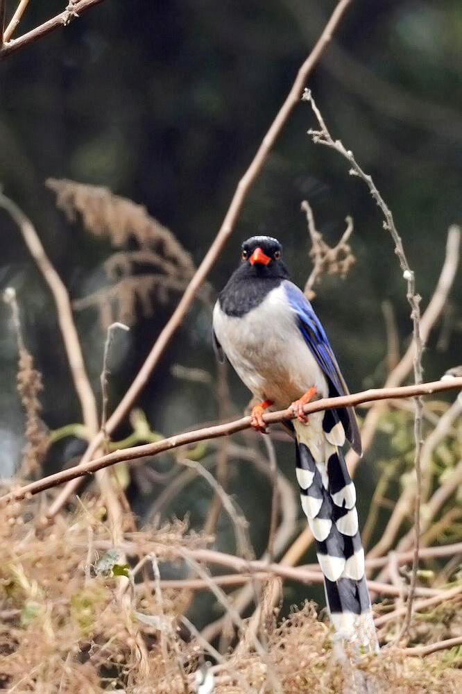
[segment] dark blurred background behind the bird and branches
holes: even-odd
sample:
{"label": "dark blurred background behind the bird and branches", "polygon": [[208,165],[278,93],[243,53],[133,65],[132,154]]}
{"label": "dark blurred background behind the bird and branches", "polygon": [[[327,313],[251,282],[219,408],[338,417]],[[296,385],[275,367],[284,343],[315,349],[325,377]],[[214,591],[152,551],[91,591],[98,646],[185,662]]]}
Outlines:
{"label": "dark blurred background behind the bird and branches", "polygon": [[[7,13],[14,9],[11,5],[7,2]],[[101,297],[127,272],[116,261],[108,277],[104,263],[114,250],[139,250],[139,239],[135,235],[117,245],[108,234],[89,232],[80,214],[69,222],[57,210],[46,178],[109,187],[144,205],[197,266],[334,5],[327,0],[107,1],[1,63],[3,192],[33,221],[77,302],[78,332],[96,393],[108,319]],[[62,6],[62,1],[32,0],[15,35],[62,11]],[[309,78],[333,137],[352,149],[393,210],[423,308],[443,263],[447,228],[461,221],[461,81],[462,6],[457,0],[355,0]],[[139,398],[137,405],[156,432],[168,435],[243,412],[249,394],[233,373],[228,374],[229,407],[219,412],[210,301],[239,262],[242,240],[256,233],[280,239],[293,279],[305,284],[311,271],[311,244],[300,211],[305,199],[330,245],[341,237],[345,217],[354,219],[350,244],[356,263],[345,279],[323,278],[314,300],[350,390],[380,386],[388,373],[384,302],[393,315],[400,352],[409,344],[405,282],[379,210],[364,185],[348,176],[345,160],[311,142],[307,130],[313,126],[309,105],[300,102],[246,198],[232,239],[209,277],[210,287],[190,310]],[[17,291],[24,340],[43,376],[42,418],[48,428],[58,430],[78,423],[80,409],[53,301],[4,210],[0,230],[0,288]],[[128,274],[146,276],[146,265],[135,263]],[[138,293],[130,289],[135,280],[129,289],[124,285],[131,296],[125,314],[119,311],[121,303],[114,303],[113,317],[129,321],[131,330],[114,340],[110,411],[184,286],[184,281],[168,287],[143,281]],[[100,292],[99,303],[78,302],[95,292]],[[456,279],[427,345],[426,380],[461,362],[461,298]],[[3,304],[0,325],[0,473],[8,477],[20,466],[24,414],[16,391],[15,334]],[[223,385],[223,374],[220,378]],[[380,462],[404,459],[412,452],[411,419],[404,428],[402,424],[393,450],[391,417],[361,462],[357,484],[363,517]],[[114,439],[130,432],[127,421]],[[291,443],[276,436],[275,444],[280,470],[293,484]],[[253,445],[262,447],[256,437]],[[84,449],[81,439],[62,439],[49,451],[45,471],[69,464]],[[215,458],[213,447],[203,456],[211,468]],[[261,471],[239,462],[239,455],[230,458],[228,489],[250,522],[259,555],[268,536],[271,484]],[[164,473],[171,460],[156,459],[149,465]],[[126,481],[130,502],[142,519],[152,518],[153,504],[164,489],[155,479],[139,472]],[[154,508],[163,518],[189,514],[191,526],[200,530],[210,496],[205,481],[193,479]],[[229,550],[233,533],[224,514],[217,532],[218,546]],[[380,523],[375,537],[379,534]],[[304,595],[304,589],[289,587],[293,601]]]}

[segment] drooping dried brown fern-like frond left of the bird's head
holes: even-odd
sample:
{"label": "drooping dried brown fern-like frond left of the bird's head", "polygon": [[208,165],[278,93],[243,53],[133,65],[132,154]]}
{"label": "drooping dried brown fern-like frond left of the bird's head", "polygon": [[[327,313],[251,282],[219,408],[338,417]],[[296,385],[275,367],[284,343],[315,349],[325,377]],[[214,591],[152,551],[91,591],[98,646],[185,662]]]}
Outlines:
{"label": "drooping dried brown fern-like frond left of the bird's head", "polygon": [[105,329],[114,321],[132,325],[137,308],[152,316],[156,302],[165,304],[172,291],[185,290],[196,271],[191,255],[142,205],[108,188],[71,180],[49,178],[46,185],[56,193],[56,204],[69,221],[81,214],[89,232],[108,235],[116,248],[133,241],[138,245],[111,255],[103,267],[114,284],[74,301],[74,308],[95,306]]}

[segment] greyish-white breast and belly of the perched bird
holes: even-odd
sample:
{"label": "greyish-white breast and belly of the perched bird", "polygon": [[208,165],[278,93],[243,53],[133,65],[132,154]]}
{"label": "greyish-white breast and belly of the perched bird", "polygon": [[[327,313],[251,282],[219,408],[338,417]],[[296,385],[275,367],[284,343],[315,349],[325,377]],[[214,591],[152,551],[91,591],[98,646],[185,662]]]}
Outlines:
{"label": "greyish-white breast and belly of the perched bird", "polygon": [[311,386],[327,396],[327,382],[297,325],[280,285],[245,316],[227,316],[219,301],[213,325],[225,355],[241,380],[273,409],[288,407]]}

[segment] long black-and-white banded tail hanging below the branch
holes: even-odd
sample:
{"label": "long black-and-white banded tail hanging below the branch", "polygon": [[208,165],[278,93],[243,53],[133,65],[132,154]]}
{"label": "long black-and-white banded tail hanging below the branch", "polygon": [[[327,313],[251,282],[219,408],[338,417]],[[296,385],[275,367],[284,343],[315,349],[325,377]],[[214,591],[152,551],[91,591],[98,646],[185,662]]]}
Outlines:
{"label": "long black-and-white banded tail hanging below the branch", "polygon": [[300,500],[316,540],[332,625],[339,638],[375,651],[356,490],[340,448],[345,442],[343,427],[339,422],[326,434],[321,412],[311,414],[307,425],[295,421],[294,426]]}

